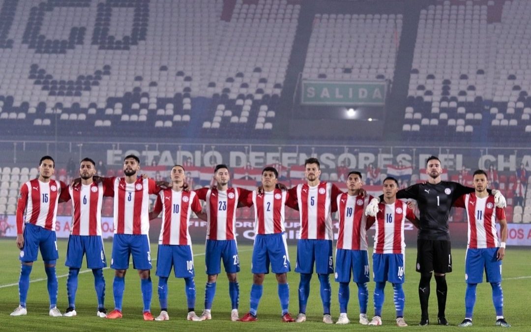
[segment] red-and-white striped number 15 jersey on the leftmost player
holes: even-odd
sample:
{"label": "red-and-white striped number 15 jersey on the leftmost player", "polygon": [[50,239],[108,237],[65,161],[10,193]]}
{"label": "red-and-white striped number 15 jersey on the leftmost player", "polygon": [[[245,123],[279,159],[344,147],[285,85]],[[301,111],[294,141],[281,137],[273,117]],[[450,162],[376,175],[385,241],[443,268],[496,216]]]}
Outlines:
{"label": "red-and-white striped number 15 jersey on the leftmost player", "polygon": [[22,234],[24,222],[55,231],[57,203],[65,191],[66,185],[56,180],[41,182],[36,178],[24,183],[16,208],[16,234]]}

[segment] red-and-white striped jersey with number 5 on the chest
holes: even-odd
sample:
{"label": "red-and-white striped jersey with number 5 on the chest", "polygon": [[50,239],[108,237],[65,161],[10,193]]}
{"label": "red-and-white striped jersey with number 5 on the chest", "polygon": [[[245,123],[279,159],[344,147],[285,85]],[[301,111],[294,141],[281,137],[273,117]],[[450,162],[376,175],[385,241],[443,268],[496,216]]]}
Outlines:
{"label": "red-and-white striped jersey with number 5 on the chest", "polygon": [[323,181],[314,187],[304,183],[289,190],[288,206],[298,206],[301,219],[299,239],[333,240],[332,202],[340,193],[335,184]]}

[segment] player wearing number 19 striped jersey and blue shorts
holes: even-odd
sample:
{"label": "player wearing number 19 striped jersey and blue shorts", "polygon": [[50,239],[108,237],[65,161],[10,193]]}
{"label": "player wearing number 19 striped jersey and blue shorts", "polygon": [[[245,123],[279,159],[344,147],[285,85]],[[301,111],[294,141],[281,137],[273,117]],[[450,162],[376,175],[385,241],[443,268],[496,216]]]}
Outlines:
{"label": "player wearing number 19 striped jersey and blue shorts", "polygon": [[350,299],[350,275],[358,286],[359,324],[367,325],[367,301],[369,300],[369,256],[367,255],[367,217],[363,213],[373,198],[364,195],[362,174],[352,171],[347,175],[347,192],[338,195],[339,234],[336,244],[336,282],[339,283],[339,319],[336,324],[348,324]]}

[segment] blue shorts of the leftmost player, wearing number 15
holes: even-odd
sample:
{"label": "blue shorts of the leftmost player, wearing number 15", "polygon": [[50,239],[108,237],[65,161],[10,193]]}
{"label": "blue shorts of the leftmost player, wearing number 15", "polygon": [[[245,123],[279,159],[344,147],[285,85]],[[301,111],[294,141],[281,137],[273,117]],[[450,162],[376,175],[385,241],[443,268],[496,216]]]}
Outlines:
{"label": "blue shorts of the leftmost player, wearing number 15", "polygon": [[24,246],[20,251],[19,259],[23,262],[34,262],[37,260],[39,249],[40,256],[45,262],[59,258],[55,231],[26,223],[24,225]]}

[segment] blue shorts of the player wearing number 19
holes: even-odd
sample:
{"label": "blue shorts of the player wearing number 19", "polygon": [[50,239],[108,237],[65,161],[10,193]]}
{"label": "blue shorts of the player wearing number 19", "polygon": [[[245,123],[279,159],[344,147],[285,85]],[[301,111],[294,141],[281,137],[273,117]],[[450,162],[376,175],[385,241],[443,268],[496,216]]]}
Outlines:
{"label": "blue shorts of the player wearing number 19", "polygon": [[349,283],[350,273],[355,283],[369,282],[369,255],[366,250],[336,250],[336,282]]}

